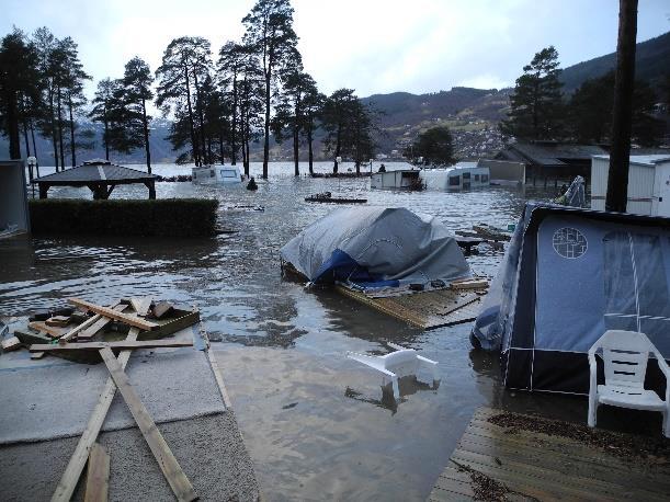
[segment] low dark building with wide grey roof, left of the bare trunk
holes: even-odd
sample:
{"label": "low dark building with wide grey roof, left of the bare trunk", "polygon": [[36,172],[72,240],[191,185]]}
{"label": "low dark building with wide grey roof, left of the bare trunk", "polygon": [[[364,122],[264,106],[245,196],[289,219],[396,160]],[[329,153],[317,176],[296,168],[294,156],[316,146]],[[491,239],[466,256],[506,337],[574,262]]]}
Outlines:
{"label": "low dark building with wide grey roof, left of the bare trunk", "polygon": [[606,155],[598,145],[572,145],[558,141],[516,142],[500,150],[495,160],[525,163],[526,180],[535,185],[537,180],[547,182],[569,181],[580,175],[591,178],[591,158]]}

